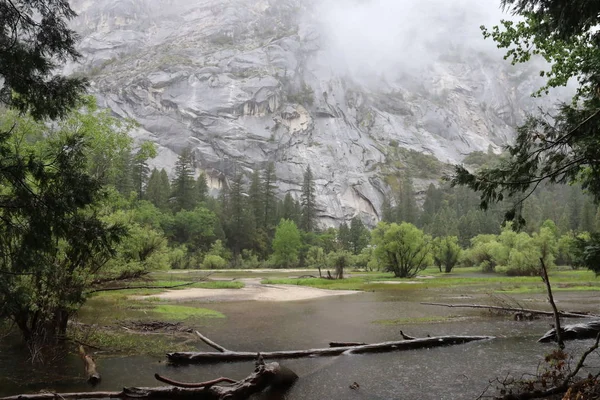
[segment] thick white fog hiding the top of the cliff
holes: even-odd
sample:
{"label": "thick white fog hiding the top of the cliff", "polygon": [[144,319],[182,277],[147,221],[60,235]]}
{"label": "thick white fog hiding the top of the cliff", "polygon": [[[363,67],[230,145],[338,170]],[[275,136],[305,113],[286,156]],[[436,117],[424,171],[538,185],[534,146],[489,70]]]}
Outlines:
{"label": "thick white fog hiding the top of the cliff", "polygon": [[511,18],[499,0],[322,0],[310,16],[324,64],[356,77],[415,74],[441,55],[503,51],[480,26]]}

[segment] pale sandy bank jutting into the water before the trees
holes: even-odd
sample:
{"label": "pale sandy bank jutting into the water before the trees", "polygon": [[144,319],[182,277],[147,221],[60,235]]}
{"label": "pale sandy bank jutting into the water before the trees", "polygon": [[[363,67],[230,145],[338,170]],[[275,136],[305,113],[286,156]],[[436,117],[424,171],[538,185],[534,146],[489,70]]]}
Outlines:
{"label": "pale sandy bank jutting into the water before the trees", "polygon": [[190,288],[167,290],[151,296],[136,296],[137,299],[158,298],[161,300],[206,302],[225,301],[296,301],[317,299],[329,296],[344,296],[360,293],[356,290],[317,289],[296,285],[263,285],[260,279],[241,279],[246,285],[241,289],[200,289]]}

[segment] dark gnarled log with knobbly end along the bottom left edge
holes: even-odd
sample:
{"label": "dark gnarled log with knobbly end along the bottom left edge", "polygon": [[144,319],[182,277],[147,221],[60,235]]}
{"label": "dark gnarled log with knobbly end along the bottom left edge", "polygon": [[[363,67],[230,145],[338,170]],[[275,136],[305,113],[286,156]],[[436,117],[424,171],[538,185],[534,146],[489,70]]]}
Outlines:
{"label": "dark gnarled log with knobbly end along the bottom left edge", "polygon": [[[168,378],[163,378],[167,379]],[[130,387],[120,392],[79,392],[79,393],[36,393],[21,394],[0,398],[0,400],[65,400],[65,399],[190,399],[190,400],[245,400],[268,387],[289,387],[298,376],[278,363],[261,363],[247,378],[233,381],[221,378],[220,382],[233,381],[231,386],[219,386],[219,380],[198,384],[196,387]],[[171,380],[169,380],[171,381]],[[180,382],[171,381],[176,384]]]}

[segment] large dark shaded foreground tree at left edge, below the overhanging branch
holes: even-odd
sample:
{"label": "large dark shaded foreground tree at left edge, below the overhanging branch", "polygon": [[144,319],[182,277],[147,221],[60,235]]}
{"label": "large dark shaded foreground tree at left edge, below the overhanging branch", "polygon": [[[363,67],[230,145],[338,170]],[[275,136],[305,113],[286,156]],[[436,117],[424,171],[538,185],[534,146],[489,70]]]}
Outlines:
{"label": "large dark shaded foreground tree at left edge, below the overhanging branch", "polygon": [[65,333],[125,233],[98,217],[103,192],[88,173],[84,132],[40,146],[43,157],[0,140],[0,318],[29,343]]}

